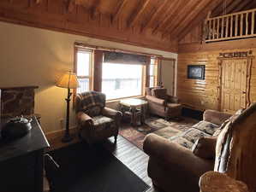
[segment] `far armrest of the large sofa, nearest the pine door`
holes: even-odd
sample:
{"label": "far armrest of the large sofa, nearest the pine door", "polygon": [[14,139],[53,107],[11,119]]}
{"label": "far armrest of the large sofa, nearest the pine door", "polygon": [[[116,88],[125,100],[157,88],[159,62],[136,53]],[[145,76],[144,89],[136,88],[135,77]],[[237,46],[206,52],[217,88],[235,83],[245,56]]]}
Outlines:
{"label": "far armrest of the large sofa, nearest the pine door", "polygon": [[205,110],[205,113],[204,113],[204,120],[216,125],[222,125],[223,122],[226,119],[229,119],[229,117],[231,116],[232,115],[228,113],[207,109]]}

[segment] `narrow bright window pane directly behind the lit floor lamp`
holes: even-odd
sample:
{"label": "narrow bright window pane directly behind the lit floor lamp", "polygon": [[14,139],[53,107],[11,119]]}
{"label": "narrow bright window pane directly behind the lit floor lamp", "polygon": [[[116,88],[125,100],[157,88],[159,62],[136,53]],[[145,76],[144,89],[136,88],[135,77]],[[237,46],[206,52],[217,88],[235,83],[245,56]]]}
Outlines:
{"label": "narrow bright window pane directly behind the lit floor lamp", "polygon": [[87,49],[75,48],[75,56],[76,75],[80,84],[80,87],[76,90],[76,92],[81,93],[91,90],[92,51]]}

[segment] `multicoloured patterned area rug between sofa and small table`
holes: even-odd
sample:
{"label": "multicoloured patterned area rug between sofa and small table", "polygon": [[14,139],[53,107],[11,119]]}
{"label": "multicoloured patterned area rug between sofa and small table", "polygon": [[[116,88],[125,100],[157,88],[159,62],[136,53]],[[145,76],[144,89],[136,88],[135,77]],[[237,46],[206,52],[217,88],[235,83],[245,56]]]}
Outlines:
{"label": "multicoloured patterned area rug between sofa and small table", "polygon": [[143,148],[143,141],[147,134],[154,133],[164,138],[170,138],[187,131],[193,125],[198,123],[198,120],[182,117],[182,120],[164,120],[161,118],[151,117],[146,119],[145,125],[132,127],[129,124],[123,124],[119,134],[134,143],[138,148]]}

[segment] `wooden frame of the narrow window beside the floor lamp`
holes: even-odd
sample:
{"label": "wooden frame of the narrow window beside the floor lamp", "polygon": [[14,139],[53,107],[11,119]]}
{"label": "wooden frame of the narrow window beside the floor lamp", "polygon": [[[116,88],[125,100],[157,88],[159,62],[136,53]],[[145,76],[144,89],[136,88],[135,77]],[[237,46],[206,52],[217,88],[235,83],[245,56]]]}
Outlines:
{"label": "wooden frame of the narrow window beside the floor lamp", "polygon": [[[89,75],[86,75],[86,76],[78,76],[77,75],[77,54],[79,52],[90,53],[90,58],[89,58]],[[79,79],[89,79],[89,90],[92,90],[92,81],[93,81],[92,69],[93,69],[93,50],[92,49],[82,48],[82,47],[74,45],[74,73],[76,74],[78,80]],[[74,89],[73,92],[74,92],[73,96],[75,97],[76,94],[77,94],[77,89]]]}

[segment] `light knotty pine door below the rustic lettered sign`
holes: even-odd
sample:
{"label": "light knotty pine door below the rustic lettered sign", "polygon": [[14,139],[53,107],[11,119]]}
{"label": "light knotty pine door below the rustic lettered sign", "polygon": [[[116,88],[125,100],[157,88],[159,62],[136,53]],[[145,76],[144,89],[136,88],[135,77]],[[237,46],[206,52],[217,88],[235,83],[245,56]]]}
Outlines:
{"label": "light knotty pine door below the rustic lettered sign", "polygon": [[235,113],[247,107],[247,59],[221,62],[221,111]]}

